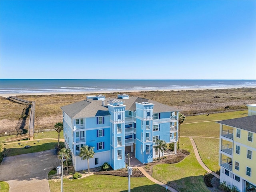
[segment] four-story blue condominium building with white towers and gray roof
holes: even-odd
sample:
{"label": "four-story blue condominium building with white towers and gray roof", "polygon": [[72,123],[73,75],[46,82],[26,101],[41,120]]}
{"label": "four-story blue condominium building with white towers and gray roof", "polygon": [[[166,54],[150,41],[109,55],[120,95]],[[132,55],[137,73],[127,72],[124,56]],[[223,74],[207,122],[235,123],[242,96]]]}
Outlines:
{"label": "four-story blue condominium building with white towers and gray roof", "polygon": [[[178,141],[178,109],[159,102],[119,94],[108,98],[102,94],[61,107],[66,148],[72,152],[76,171],[88,169],[79,157],[82,146],[94,147],[90,168],[108,162],[116,170],[125,167],[130,152],[142,163],[159,156],[153,148],[157,140]],[[161,154],[162,156],[162,154]]]}

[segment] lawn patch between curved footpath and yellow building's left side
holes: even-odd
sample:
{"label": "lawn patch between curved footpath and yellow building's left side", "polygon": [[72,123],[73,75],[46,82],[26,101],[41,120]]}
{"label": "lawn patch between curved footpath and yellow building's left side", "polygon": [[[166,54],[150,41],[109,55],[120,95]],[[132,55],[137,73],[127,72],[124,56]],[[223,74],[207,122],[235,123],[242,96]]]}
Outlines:
{"label": "lawn patch between curved footpath and yellow building's left side", "polygon": [[219,139],[193,138],[200,157],[204,164],[212,171],[218,171],[219,166]]}

